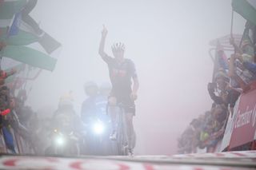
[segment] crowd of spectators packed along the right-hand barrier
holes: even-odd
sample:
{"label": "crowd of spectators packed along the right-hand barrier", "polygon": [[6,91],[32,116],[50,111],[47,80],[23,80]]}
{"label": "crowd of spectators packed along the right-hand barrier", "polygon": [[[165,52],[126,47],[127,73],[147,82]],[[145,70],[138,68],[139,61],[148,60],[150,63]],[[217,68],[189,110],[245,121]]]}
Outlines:
{"label": "crowd of spectators packed along the right-hand barrier", "polygon": [[[230,36],[230,45],[234,53],[225,61],[224,49],[216,49],[213,82],[207,85],[212,101],[210,111],[190,122],[190,125],[178,138],[179,153],[214,152],[221,142],[229,117],[233,117],[234,105],[241,93],[250,91],[256,81],[256,26],[246,22],[241,44]],[[226,63],[225,63],[226,62]],[[225,67],[226,65],[226,67]]]}

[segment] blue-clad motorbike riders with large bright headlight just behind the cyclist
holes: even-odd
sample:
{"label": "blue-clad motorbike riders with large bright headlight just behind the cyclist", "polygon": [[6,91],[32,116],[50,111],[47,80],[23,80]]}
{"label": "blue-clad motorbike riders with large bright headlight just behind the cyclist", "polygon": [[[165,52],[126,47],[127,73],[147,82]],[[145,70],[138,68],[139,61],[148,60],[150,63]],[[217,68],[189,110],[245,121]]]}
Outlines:
{"label": "blue-clad motorbike riders with large bright headlight just behind the cyclist", "polygon": [[[82,103],[81,116],[82,121],[87,126],[86,142],[83,144],[83,152],[93,155],[109,155],[110,154],[110,117],[106,114],[107,91],[110,85],[98,85],[89,81],[84,85],[86,100]],[[94,129],[91,126],[100,122],[103,130],[102,134],[95,136]],[[97,132],[96,132],[97,133]],[[99,139],[100,138],[100,139]]]}

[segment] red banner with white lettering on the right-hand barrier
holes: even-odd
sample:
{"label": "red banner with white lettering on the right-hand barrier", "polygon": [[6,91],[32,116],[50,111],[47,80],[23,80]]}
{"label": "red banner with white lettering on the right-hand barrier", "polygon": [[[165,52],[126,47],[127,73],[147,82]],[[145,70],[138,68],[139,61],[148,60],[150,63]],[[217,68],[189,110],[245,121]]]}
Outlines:
{"label": "red banner with white lettering on the right-hand barrier", "polygon": [[234,113],[230,148],[235,148],[254,140],[256,132],[256,89],[243,93]]}

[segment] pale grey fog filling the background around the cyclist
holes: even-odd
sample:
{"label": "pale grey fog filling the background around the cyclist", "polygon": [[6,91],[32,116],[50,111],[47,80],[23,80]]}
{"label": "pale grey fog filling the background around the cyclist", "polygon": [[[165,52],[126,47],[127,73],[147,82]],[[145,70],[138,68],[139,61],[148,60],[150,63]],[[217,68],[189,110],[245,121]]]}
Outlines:
{"label": "pale grey fog filling the background around the cyclist", "polygon": [[[230,34],[230,0],[43,0],[31,15],[62,42],[54,72],[31,84],[28,104],[38,113],[49,116],[70,90],[80,113],[84,83],[109,81],[98,55],[102,24],[109,30],[106,52],[112,54],[113,42],[124,42],[137,67],[138,154],[174,154],[178,136],[210,109],[209,42]],[[244,23],[234,14],[234,33],[242,34]]]}

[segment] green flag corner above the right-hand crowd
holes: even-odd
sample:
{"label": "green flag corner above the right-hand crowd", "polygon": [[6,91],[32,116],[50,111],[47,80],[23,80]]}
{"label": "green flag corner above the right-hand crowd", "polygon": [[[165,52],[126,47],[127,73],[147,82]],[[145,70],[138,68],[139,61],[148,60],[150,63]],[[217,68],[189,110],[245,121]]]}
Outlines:
{"label": "green flag corner above the right-hand crowd", "polygon": [[233,10],[256,26],[256,1],[232,0]]}

